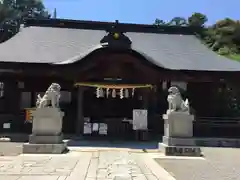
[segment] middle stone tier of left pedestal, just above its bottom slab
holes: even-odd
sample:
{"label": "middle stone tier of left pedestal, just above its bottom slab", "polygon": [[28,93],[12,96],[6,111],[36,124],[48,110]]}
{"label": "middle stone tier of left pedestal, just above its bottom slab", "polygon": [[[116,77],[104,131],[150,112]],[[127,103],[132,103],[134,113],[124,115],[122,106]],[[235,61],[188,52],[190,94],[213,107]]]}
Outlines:
{"label": "middle stone tier of left pedestal, just above its bottom slab", "polygon": [[29,136],[30,144],[61,144],[63,140],[63,135],[35,135],[31,134]]}

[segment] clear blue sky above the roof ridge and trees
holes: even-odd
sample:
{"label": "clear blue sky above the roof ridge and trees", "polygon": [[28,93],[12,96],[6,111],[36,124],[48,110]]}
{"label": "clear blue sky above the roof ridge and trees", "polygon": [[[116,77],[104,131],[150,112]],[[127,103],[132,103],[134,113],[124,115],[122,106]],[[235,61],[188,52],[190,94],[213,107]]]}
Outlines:
{"label": "clear blue sky above the roof ridge and trees", "polygon": [[240,20],[240,0],[43,0],[58,18],[152,24],[193,12],[207,15],[208,24],[230,17]]}

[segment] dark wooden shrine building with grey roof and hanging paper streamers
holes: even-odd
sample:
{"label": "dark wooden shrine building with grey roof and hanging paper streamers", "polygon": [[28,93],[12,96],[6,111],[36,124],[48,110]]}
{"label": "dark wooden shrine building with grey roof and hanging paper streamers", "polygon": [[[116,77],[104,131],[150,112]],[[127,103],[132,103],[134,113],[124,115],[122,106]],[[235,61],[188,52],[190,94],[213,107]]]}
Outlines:
{"label": "dark wooden shrine building with grey roof and hanging paper streamers", "polygon": [[[143,109],[149,137],[161,136],[167,89],[176,85],[195,115],[194,136],[239,137],[232,101],[239,99],[240,63],[208,49],[197,33],[118,21],[26,20],[0,44],[0,132],[31,133],[36,96],[56,82],[66,134],[101,136],[104,124],[105,136],[131,138],[133,110]],[[89,124],[98,126],[87,130]]]}

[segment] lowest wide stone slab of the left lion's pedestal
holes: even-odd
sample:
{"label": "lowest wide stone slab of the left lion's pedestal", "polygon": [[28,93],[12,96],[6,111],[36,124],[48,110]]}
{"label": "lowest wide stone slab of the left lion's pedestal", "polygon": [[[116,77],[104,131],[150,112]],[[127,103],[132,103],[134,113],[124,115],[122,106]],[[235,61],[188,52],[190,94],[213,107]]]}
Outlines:
{"label": "lowest wide stone slab of the left lion's pedestal", "polygon": [[67,145],[60,144],[23,144],[24,154],[62,154],[67,152]]}

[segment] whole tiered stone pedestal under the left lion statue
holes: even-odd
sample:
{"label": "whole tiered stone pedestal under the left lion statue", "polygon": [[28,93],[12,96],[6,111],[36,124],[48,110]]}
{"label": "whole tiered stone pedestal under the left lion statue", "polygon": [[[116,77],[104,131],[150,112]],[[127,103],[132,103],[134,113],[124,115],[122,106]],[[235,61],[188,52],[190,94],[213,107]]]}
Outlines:
{"label": "whole tiered stone pedestal under the left lion statue", "polygon": [[39,108],[33,112],[32,134],[23,153],[60,154],[66,151],[62,136],[64,113],[58,108]]}

